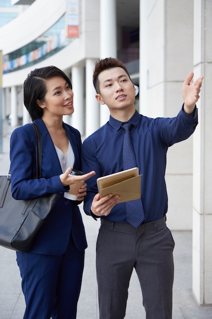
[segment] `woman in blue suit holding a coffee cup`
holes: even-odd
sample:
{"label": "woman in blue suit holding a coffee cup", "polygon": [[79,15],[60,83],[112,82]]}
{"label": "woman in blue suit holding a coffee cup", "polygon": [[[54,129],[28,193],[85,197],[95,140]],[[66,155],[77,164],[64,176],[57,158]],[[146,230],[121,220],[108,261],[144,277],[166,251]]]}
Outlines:
{"label": "woman in blue suit holding a coffee cup", "polygon": [[[74,319],[87,243],[77,202],[68,200],[64,193],[95,172],[70,175],[72,168],[81,169],[81,138],[78,130],[63,122],[63,115],[74,112],[69,77],[54,66],[35,69],[25,79],[23,95],[24,105],[41,132],[42,178],[34,178],[34,128],[30,124],[18,127],[11,135],[13,197],[31,199],[60,194],[31,251],[17,252],[26,303],[24,319]],[[83,183],[78,203],[85,195]]]}

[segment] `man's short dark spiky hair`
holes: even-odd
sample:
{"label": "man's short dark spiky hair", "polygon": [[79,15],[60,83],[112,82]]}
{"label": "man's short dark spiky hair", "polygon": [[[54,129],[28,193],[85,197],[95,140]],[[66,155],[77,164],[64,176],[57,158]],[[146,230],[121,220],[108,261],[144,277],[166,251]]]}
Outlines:
{"label": "man's short dark spiky hair", "polygon": [[[119,68],[122,68],[123,70],[125,70],[125,72],[127,73],[127,75],[130,78],[130,74],[128,73],[128,70],[127,70],[125,64],[118,59],[105,58],[105,59],[100,60],[99,62],[96,62],[94,73],[93,73],[93,84],[94,84],[94,87],[95,87],[95,90],[97,93],[100,93],[99,74],[102,71],[116,68],[116,67],[119,67]],[[130,78],[130,81],[131,81],[131,78]]]}

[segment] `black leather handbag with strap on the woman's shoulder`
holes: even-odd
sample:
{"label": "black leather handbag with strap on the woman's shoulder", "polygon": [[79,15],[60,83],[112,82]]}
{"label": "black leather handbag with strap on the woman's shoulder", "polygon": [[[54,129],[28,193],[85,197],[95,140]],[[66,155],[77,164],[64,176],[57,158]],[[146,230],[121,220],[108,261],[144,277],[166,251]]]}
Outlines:
{"label": "black leather handbag with strap on the woman's shoulder", "polygon": [[[41,177],[42,141],[38,127],[31,123],[36,134],[37,178]],[[58,194],[16,200],[11,193],[11,175],[0,176],[0,245],[16,251],[32,248],[34,236],[59,199]]]}

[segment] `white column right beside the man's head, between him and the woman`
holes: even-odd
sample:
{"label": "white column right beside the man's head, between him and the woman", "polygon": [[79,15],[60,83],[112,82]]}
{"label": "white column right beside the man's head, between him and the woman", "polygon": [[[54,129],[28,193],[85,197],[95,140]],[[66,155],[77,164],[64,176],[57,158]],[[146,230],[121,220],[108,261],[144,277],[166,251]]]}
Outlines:
{"label": "white column right beside the man's head, between him and the woman", "polygon": [[97,130],[99,126],[99,110],[100,105],[96,100],[96,91],[93,85],[93,71],[95,67],[95,59],[86,60],[86,126],[85,135],[86,137]]}

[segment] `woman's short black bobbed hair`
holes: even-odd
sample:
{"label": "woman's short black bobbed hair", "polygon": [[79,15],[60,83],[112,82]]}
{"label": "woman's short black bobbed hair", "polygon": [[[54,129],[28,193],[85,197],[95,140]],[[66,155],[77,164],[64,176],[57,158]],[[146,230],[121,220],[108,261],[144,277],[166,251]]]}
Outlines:
{"label": "woman's short black bobbed hair", "polygon": [[24,81],[23,102],[33,121],[43,115],[43,109],[39,107],[36,101],[37,99],[44,101],[47,92],[46,80],[53,76],[63,77],[72,89],[70,78],[55,66],[35,69],[28,74]]}

